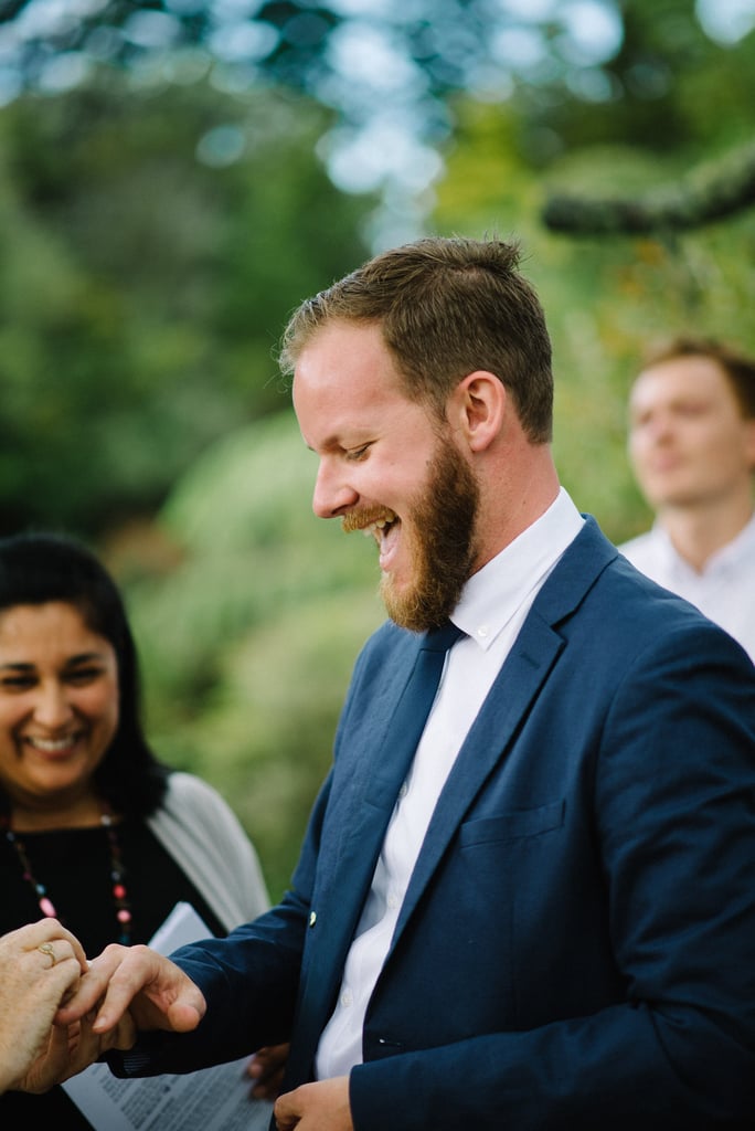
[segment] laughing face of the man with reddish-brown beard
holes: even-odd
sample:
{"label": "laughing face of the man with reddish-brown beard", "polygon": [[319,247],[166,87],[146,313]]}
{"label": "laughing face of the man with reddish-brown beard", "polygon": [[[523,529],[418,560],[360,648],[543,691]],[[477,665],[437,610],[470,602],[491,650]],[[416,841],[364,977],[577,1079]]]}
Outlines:
{"label": "laughing face of the man with reddish-brown beard", "polygon": [[376,325],[319,329],[296,365],[294,407],[320,459],[315,515],[375,537],[398,624],[437,624],[471,572],[478,498],[450,429],[406,397]]}

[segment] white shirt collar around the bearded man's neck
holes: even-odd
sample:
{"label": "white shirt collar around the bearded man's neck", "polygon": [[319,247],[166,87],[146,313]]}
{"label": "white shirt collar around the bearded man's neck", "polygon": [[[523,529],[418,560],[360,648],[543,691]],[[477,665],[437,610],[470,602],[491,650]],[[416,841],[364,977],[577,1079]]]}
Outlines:
{"label": "white shirt collar around the bearded man's neck", "polygon": [[523,602],[537,593],[583,523],[561,487],[540,518],[469,578],[453,623],[488,648]]}

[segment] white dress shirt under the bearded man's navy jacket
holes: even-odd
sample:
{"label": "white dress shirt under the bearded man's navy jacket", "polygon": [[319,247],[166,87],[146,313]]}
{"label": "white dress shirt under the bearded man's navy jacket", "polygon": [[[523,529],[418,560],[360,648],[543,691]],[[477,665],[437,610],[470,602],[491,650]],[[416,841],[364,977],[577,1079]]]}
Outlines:
{"label": "white dress shirt under the bearded man's navy jacket", "polygon": [[367,1003],[437,798],[535,597],[583,521],[562,487],[545,515],[465,586],[452,620],[467,636],[449,651],[411,769],[399,791],[346,957],[338,1001],[320,1038],[318,1079],[347,1074],[362,1063]]}

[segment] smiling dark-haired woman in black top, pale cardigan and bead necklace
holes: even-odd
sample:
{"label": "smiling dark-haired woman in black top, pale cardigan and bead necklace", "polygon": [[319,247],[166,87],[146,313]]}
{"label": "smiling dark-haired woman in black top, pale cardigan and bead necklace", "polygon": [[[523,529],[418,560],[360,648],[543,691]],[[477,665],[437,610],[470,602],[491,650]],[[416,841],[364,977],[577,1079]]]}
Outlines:
{"label": "smiling dark-haired woman in black top, pale cardigan and bead necklace", "polygon": [[[257,853],[207,783],[153,753],[121,595],[78,541],[0,538],[0,935],[55,917],[88,955],[148,942],[179,900],[216,935],[268,908]],[[89,1128],[61,1088],[0,1126]]]}

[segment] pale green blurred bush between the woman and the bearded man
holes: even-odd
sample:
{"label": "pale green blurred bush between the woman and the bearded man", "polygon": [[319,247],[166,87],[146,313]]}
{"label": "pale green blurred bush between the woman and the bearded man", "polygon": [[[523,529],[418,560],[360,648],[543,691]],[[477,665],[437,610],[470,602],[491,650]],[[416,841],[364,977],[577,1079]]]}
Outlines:
{"label": "pale green blurred bush between the woman and the bearded man", "polygon": [[[352,664],[383,619],[372,539],[309,506],[315,460],[290,411],[217,441],[151,530],[163,576],[121,556],[149,733],[228,797],[285,888]],[[128,545],[128,543],[127,543]]]}

